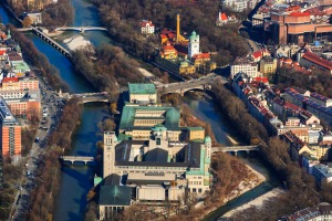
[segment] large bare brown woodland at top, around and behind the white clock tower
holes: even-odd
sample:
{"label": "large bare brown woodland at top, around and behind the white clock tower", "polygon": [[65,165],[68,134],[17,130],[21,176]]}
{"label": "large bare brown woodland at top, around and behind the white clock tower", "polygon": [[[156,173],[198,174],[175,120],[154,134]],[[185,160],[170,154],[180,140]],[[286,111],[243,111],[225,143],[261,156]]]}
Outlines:
{"label": "large bare brown woodland at top, around and behind the white clock tower", "polygon": [[[160,46],[157,35],[141,34],[139,21],[152,20],[158,28],[176,30],[176,14],[181,17],[181,32],[187,35],[194,30],[200,35],[203,52],[218,52],[214,60],[218,65],[228,64],[236,56],[248,53],[245,39],[238,34],[240,24],[216,27],[218,4],[215,1],[198,0],[181,1],[149,1],[149,0],[91,0],[100,9],[103,24],[110,34],[121,42],[126,52],[149,59],[149,55]],[[190,4],[190,6],[188,6]]]}

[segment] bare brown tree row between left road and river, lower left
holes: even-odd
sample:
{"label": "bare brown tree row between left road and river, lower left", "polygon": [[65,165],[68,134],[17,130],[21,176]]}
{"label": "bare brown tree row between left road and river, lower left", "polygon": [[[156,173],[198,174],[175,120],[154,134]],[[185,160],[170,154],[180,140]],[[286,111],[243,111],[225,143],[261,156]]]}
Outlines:
{"label": "bare brown tree row between left road and river, lower left", "polygon": [[72,98],[64,106],[58,128],[48,139],[46,151],[35,175],[35,189],[30,197],[28,220],[52,220],[54,200],[59,193],[61,165],[59,157],[71,148],[71,136],[82,114],[82,105],[77,98]]}

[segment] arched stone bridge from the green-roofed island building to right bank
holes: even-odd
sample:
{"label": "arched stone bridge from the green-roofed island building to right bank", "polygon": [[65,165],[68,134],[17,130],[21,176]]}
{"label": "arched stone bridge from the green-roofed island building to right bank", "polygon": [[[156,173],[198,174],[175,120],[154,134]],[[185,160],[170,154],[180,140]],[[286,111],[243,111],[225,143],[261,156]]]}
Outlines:
{"label": "arched stone bridge from the green-roofed island building to right bank", "polygon": [[228,82],[227,78],[212,73],[197,80],[190,80],[172,84],[159,84],[156,87],[158,88],[160,95],[178,93],[183,96],[186,92],[193,90],[210,90],[214,81],[216,81],[217,78],[221,80],[221,82],[224,82],[225,84]]}

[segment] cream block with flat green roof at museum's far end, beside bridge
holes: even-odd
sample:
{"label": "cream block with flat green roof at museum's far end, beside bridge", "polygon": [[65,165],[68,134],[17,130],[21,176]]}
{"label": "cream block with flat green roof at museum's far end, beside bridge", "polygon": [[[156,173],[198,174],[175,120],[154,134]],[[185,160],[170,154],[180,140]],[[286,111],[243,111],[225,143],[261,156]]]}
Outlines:
{"label": "cream block with flat green roof at museum's far end, beside bridge", "polygon": [[128,83],[128,90],[129,103],[143,105],[157,103],[157,92],[154,84]]}

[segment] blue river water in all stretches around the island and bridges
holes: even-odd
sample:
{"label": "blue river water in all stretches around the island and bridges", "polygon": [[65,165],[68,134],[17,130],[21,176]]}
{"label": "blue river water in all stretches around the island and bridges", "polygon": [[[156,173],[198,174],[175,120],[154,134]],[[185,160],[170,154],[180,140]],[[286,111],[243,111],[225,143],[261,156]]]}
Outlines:
{"label": "blue river water in all stretches around the island and bridges", "polygon": [[[72,0],[72,4],[75,10],[74,25],[96,25],[102,27],[100,23],[96,8],[87,0]],[[12,22],[8,13],[0,6],[0,14],[3,23]],[[65,39],[80,34],[79,32],[69,32],[59,36]],[[105,32],[94,31],[83,34],[95,46],[101,43],[112,43],[112,40]],[[51,45],[40,40],[33,34],[27,34],[30,38],[38,50],[46,55],[50,62],[59,69],[61,77],[69,84],[72,92],[92,92],[94,88],[82,76],[74,73],[73,65],[61,53],[55,51]],[[185,103],[194,110],[195,115],[204,119],[211,125],[211,128],[216,135],[217,140],[224,145],[231,145],[232,137],[235,140],[241,143],[240,137],[237,137],[231,124],[217,110],[214,102],[210,97],[196,97],[186,96]],[[107,117],[108,110],[106,105],[89,104],[84,105],[83,116],[81,125],[73,135],[72,140],[72,155],[94,155],[95,144],[102,139],[96,135],[97,124],[103,118]],[[256,165],[264,169],[264,166],[256,160]],[[268,180],[255,188],[253,190],[242,194],[241,197],[228,202],[226,206],[215,211],[208,220],[215,220],[225,212],[248,202],[250,199],[255,199],[262,193],[276,187],[278,182],[274,179],[270,179],[271,171],[266,170]],[[66,220],[83,220],[84,210],[86,206],[86,193],[92,188],[92,170],[87,167],[64,167],[62,169],[62,180],[59,198],[55,202],[55,209],[53,219],[55,221]]]}

